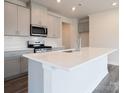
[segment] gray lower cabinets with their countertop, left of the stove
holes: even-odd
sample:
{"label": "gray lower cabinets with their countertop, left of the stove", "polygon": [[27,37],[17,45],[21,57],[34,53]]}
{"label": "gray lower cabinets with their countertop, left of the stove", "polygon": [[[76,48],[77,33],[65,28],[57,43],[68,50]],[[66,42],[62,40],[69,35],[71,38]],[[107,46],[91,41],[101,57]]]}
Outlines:
{"label": "gray lower cabinets with their countertop, left of the stove", "polygon": [[28,72],[28,59],[22,55],[33,53],[28,51],[9,51],[4,52],[4,78],[5,80],[15,78]]}

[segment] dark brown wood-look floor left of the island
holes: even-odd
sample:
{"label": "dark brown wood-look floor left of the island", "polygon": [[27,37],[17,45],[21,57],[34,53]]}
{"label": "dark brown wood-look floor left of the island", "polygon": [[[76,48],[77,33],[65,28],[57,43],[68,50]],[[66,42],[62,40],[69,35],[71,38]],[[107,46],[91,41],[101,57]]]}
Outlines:
{"label": "dark brown wood-look floor left of the island", "polygon": [[28,76],[5,81],[4,93],[28,93]]}

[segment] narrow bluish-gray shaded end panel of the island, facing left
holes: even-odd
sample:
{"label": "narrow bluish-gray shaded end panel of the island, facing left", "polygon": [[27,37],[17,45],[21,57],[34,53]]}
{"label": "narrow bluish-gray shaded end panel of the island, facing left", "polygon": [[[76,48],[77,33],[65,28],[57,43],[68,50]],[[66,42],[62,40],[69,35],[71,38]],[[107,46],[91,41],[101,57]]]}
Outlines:
{"label": "narrow bluish-gray shaded end panel of the island, facing left", "polygon": [[42,64],[33,60],[28,62],[28,93],[43,93]]}

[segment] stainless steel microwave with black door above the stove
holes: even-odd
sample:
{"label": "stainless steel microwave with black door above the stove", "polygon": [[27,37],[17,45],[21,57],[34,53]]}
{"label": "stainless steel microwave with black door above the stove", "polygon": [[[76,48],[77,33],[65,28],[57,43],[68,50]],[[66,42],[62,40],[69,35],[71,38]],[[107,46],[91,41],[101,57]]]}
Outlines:
{"label": "stainless steel microwave with black door above the stove", "polygon": [[45,26],[31,25],[30,35],[31,36],[42,36],[47,37],[48,28]]}

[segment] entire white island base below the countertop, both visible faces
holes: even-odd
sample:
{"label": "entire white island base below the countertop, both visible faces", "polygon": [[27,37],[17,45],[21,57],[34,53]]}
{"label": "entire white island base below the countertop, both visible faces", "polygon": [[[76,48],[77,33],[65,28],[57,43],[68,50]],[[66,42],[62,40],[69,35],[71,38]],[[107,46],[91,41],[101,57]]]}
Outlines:
{"label": "entire white island base below the countertop, both visible faces", "polygon": [[72,71],[29,60],[28,93],[92,93],[107,73],[107,56]]}

